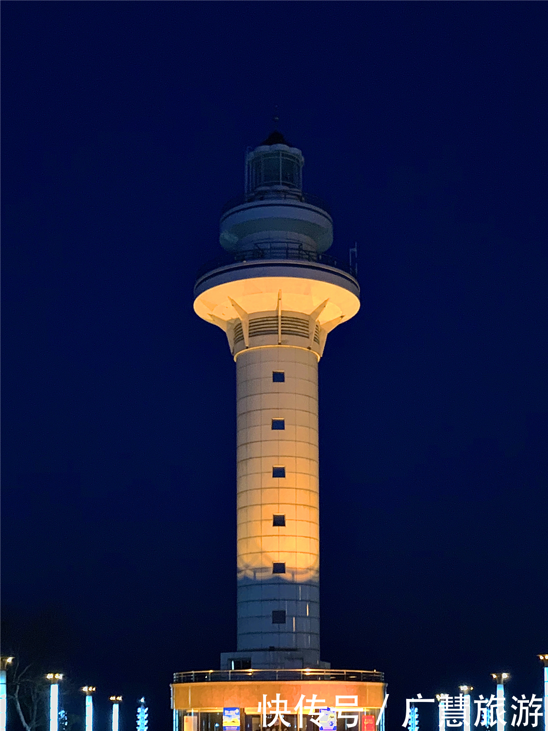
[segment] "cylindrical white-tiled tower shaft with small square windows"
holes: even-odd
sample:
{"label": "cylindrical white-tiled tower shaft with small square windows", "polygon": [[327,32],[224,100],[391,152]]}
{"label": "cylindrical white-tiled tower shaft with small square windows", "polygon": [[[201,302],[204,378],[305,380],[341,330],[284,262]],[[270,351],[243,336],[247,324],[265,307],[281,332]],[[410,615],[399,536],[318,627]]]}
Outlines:
{"label": "cylindrical white-tiled tower shaft with small square windows", "polygon": [[[241,352],[236,367],[238,650],[319,651],[318,359],[268,346]],[[275,466],[286,477],[273,477]],[[273,526],[275,514],[285,526]],[[273,574],[275,562],[285,574]],[[285,624],[273,624],[273,610]]]}

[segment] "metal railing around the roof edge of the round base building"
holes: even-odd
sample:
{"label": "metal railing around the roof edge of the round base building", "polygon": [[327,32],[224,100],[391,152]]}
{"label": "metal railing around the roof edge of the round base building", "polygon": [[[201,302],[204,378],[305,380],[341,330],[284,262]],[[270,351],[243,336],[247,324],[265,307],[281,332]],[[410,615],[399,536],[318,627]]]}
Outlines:
{"label": "metal railing around the roof edge of the round base building", "polygon": [[234,683],[257,681],[354,681],[354,683],[384,683],[384,673],[378,670],[190,670],[175,673],[174,683]]}

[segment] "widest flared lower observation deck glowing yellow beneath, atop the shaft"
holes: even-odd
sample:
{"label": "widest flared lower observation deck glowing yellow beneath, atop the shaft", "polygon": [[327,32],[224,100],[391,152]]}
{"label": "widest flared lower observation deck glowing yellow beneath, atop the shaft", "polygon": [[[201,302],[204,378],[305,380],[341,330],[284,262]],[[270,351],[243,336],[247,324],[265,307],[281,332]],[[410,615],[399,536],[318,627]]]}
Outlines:
{"label": "widest flared lower observation deck glowing yellow beneath, atop the shaft", "polygon": [[279,241],[220,254],[199,270],[194,285],[194,311],[227,333],[235,357],[278,344],[312,349],[319,358],[327,334],[358,309],[353,267]]}

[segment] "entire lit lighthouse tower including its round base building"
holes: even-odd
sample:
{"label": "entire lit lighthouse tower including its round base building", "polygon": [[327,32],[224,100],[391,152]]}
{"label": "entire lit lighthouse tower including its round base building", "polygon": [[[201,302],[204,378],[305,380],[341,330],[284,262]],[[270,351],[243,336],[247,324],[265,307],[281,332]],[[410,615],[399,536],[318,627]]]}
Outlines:
{"label": "entire lit lighthouse tower including its round base building", "polygon": [[[194,287],[194,310],[224,330],[236,363],[237,650],[221,670],[175,674],[180,731],[235,727],[222,718],[231,708],[253,731],[265,725],[259,701],[277,693],[293,728],[302,694],[324,708],[355,697],[365,731],[384,699],[382,673],[320,659],[318,363],[328,333],[357,313],[359,286],[324,253],[332,219],[302,192],[303,164],[279,132],[248,153],[245,193],[221,215],[226,253]],[[317,720],[304,713],[305,726]]]}

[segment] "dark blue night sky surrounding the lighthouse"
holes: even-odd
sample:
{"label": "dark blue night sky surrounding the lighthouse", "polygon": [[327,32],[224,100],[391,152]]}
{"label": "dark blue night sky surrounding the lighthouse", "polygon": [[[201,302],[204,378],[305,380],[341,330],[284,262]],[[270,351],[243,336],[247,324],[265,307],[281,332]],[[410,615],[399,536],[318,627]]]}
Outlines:
{"label": "dark blue night sky surrounding the lighthouse", "polygon": [[101,729],[115,692],[123,731],[142,694],[167,731],[172,673],[235,648],[235,366],[192,287],[275,104],[330,253],[359,249],[319,366],[322,658],[384,670],[388,731],[494,671],[541,693],[546,28],[540,2],[2,3],[2,640],[94,683]]}

